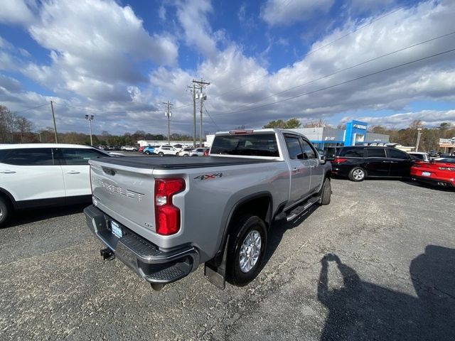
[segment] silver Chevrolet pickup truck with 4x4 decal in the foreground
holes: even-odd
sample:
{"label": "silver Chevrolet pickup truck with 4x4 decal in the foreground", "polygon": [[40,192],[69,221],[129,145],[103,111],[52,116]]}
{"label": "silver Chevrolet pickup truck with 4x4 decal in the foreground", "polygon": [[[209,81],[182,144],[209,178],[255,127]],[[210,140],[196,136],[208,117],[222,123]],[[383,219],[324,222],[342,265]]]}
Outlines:
{"label": "silver Chevrolet pickup truck with 4x4 decal in the foreground", "polygon": [[294,131],[215,135],[210,156],[90,161],[87,224],[117,257],[159,290],[205,264],[220,288],[261,270],[274,220],[294,220],[331,200],[331,164]]}

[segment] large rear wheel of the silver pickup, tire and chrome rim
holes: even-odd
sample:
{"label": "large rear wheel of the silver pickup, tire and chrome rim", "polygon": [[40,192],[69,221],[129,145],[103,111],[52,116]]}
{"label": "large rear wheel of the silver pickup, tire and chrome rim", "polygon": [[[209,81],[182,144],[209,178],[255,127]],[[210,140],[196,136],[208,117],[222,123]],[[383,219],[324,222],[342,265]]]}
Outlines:
{"label": "large rear wheel of the silver pickup, tire and chrome rim", "polygon": [[267,246],[267,227],[256,215],[241,215],[228,245],[226,279],[234,286],[246,286],[262,268]]}

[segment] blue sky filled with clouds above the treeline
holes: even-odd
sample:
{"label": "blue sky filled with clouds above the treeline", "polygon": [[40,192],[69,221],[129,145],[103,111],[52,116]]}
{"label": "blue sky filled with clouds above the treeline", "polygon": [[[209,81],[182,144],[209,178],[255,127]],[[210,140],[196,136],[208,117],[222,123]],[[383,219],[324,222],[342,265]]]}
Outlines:
{"label": "blue sky filled with clouds above the treeline", "polygon": [[[0,105],[59,131],[191,134],[272,119],[455,124],[455,1],[34,1],[0,11]],[[390,69],[390,70],[387,70]],[[37,107],[37,108],[35,108]],[[35,109],[31,109],[35,108]],[[197,108],[199,110],[199,107]]]}

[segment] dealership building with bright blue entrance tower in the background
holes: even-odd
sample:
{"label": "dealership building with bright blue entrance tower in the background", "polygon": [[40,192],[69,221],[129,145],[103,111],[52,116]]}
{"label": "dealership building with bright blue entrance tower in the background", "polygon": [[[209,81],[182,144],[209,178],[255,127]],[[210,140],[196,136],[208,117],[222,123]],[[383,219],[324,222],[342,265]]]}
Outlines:
{"label": "dealership building with bright blue entrance tower in the background", "polygon": [[385,146],[389,135],[375,134],[367,131],[368,123],[349,121],[346,129],[327,127],[289,129],[304,134],[314,146],[326,149],[337,146]]}

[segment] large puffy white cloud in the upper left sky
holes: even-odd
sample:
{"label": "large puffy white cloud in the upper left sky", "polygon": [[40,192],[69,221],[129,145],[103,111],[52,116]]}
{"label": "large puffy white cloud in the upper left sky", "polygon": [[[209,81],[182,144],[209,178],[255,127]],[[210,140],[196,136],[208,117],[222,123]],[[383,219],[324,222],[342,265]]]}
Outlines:
{"label": "large puffy white cloud in the upper left sky", "polygon": [[23,72],[55,92],[99,102],[131,100],[128,85],[147,80],[137,63],[173,65],[178,55],[173,38],[150,35],[129,6],[113,1],[45,1],[28,31],[52,63],[29,63]]}

